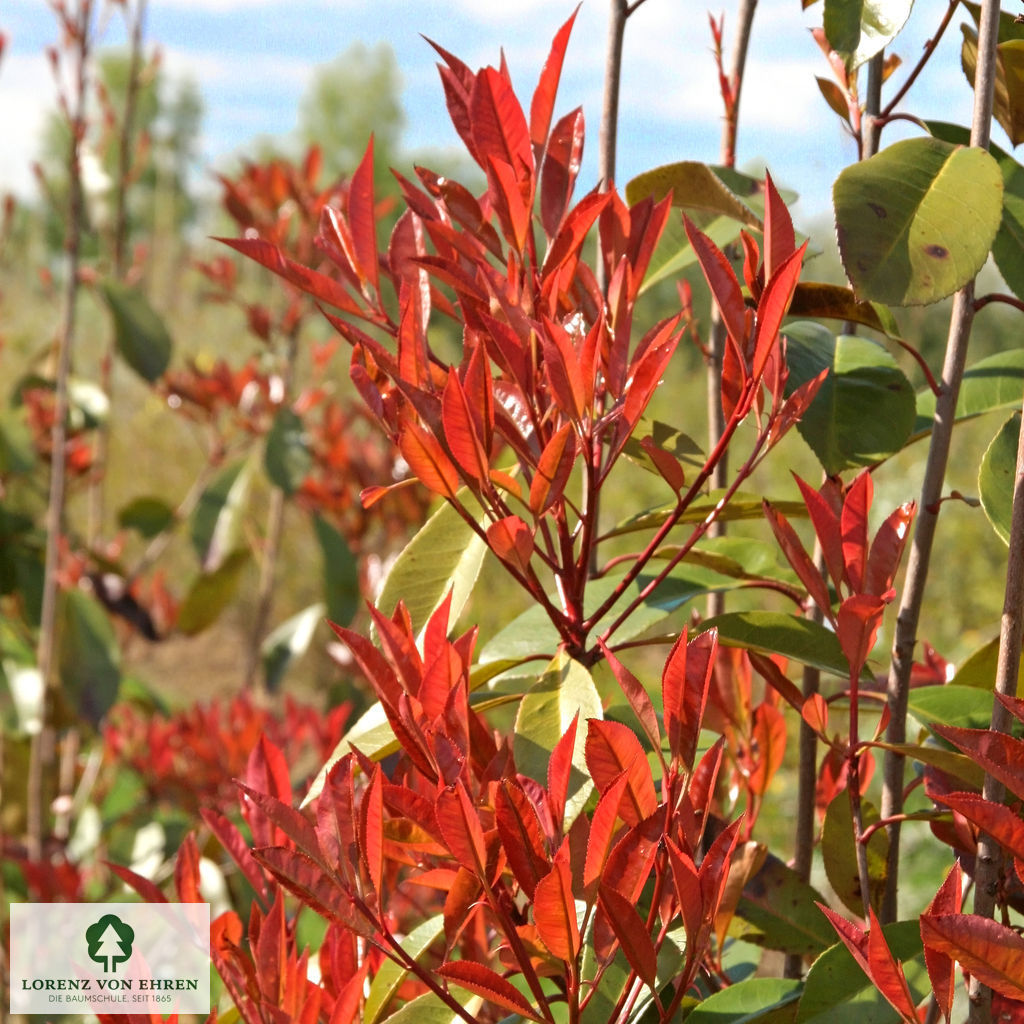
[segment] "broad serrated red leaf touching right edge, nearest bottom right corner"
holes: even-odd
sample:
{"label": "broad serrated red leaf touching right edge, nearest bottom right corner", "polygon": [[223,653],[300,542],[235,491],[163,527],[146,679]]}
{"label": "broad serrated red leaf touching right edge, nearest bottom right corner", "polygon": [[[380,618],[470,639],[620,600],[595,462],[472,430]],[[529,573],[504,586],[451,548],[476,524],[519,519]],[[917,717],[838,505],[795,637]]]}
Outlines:
{"label": "broad serrated red leaf touching right edge, nearest bottom right corner", "polygon": [[926,913],[925,946],[938,949],[982,984],[1011,999],[1024,999],[1024,938],[1012,928],[974,913]]}

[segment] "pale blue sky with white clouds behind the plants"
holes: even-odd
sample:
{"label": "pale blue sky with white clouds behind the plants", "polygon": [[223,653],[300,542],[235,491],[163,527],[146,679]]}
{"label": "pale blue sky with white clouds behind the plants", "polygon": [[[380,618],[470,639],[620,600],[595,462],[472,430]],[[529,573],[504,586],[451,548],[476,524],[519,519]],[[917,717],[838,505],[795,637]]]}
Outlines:
{"label": "pale blue sky with white clouds behind the plants", "polygon": [[[621,99],[617,181],[680,160],[716,163],[722,104],[712,56],[708,12],[725,14],[731,47],[735,0],[646,0],[627,27]],[[919,3],[894,49],[905,67],[934,30],[941,4]],[[740,105],[738,165],[768,168],[801,197],[801,209],[829,206],[831,182],[855,159],[852,142],[814,83],[827,65],[810,36],[822,5],[761,0]],[[409,150],[458,145],[444,109],[436,54],[426,36],[471,68],[497,65],[504,49],[513,82],[528,109],[551,40],[572,11],[571,0],[148,0],[146,37],[163,51],[171,76],[188,76],[205,102],[202,151],[207,167],[223,167],[260,135],[296,126],[298,101],[318,65],[350,44],[386,42],[402,78]],[[566,54],[556,115],[584,108],[588,126],[581,186],[596,178],[597,130],[608,0],[584,0]],[[933,20],[934,19],[934,20]],[[46,0],[0,0],[0,195],[31,196],[30,165],[38,133],[55,102],[46,46],[56,41]],[[123,44],[115,11],[103,39]],[[925,117],[968,123],[971,94],[959,70],[954,24],[938,59],[908,100]],[[899,73],[897,73],[898,80]],[[885,142],[907,128],[887,132]],[[997,134],[994,141],[1005,144]],[[209,172],[208,172],[209,173]]]}

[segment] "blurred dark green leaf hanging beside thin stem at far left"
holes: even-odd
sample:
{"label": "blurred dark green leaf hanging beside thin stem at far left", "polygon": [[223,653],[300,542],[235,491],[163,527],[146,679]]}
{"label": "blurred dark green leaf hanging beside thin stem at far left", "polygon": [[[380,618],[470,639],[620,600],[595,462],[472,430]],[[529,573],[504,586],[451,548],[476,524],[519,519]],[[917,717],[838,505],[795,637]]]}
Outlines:
{"label": "blurred dark green leaf hanging beside thin stem at far left", "polygon": [[103,606],[82,590],[61,591],[57,664],[60,683],[77,714],[98,725],[118,697],[121,651]]}

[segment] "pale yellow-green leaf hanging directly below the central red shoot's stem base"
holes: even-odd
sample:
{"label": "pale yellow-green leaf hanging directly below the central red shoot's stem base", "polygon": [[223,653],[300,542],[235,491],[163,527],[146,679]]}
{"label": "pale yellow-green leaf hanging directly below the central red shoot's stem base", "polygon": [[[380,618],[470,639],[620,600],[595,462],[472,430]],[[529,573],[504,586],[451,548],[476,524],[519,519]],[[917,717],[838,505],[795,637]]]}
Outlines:
{"label": "pale yellow-green leaf hanging directly below the central red shoot's stem base", "polygon": [[575,820],[594,788],[584,758],[587,719],[603,718],[604,713],[601,695],[590,673],[579,662],[560,651],[519,705],[512,740],[517,769],[547,785],[551,753],[577,715],[580,719],[565,801],[566,827]]}

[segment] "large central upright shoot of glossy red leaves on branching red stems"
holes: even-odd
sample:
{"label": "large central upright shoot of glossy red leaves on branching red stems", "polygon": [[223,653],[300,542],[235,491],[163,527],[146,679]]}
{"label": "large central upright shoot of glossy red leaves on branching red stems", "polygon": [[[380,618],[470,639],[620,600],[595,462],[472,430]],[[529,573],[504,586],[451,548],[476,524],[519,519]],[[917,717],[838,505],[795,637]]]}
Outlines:
{"label": "large central upright shoot of glossy red leaves on branching red stems", "polygon": [[[804,247],[769,179],[763,267],[757,244],[744,242],[752,308],[721,251],[687,227],[729,325],[722,441],[692,470],[646,432],[642,418],[682,332],[681,315],[646,329],[636,319],[671,200],[629,207],[610,189],[573,203],[584,119],[580,111],[554,114],[572,20],[554,40],[528,113],[504,62],[473,72],[435,46],[449,113],[486,180],[482,195],[424,168],[412,180],[396,175],[406,210],[379,248],[371,142],[349,187],[321,211],[315,264],[273,241],[230,245],[323,304],[351,345],[353,383],[412,476],[459,512],[545,609],[563,649],[586,664],[601,656],[595,628],[602,616],[617,604],[600,631],[609,642],[721,513],[724,502],[671,559],[653,563],[739,424],[755,414],[751,451],[730,494],[799,419],[820,379],[784,397],[779,329]],[[594,232],[603,291],[585,256]],[[455,362],[434,344],[434,324],[444,318],[461,340]],[[595,608],[587,601],[600,561],[593,510],[634,438],[675,504]],[[365,501],[392,486],[368,487]],[[649,583],[645,578],[640,593],[623,600],[645,571]]]}

